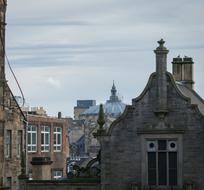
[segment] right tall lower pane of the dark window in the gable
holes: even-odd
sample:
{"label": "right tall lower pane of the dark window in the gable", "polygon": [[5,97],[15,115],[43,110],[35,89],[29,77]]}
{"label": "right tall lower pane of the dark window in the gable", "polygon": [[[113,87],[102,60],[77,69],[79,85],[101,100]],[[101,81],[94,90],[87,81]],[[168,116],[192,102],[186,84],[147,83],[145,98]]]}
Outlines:
{"label": "right tall lower pane of the dark window in the gable", "polygon": [[177,185],[177,153],[169,152],[169,185]]}

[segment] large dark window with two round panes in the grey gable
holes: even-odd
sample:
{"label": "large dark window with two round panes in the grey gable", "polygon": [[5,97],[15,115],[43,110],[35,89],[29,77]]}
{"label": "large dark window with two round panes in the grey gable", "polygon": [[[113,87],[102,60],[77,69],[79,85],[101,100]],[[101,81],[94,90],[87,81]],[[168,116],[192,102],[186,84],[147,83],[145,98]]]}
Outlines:
{"label": "large dark window with two round panes in the grey gable", "polygon": [[177,186],[177,141],[147,141],[149,186]]}

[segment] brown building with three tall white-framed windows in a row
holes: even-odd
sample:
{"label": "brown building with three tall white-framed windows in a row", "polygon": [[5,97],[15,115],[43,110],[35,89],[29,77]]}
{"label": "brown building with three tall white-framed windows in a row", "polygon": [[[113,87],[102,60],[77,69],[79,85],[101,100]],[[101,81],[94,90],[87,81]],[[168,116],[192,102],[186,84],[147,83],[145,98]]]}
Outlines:
{"label": "brown building with three tall white-framed windows in a row", "polygon": [[[68,119],[61,118],[61,113],[58,114],[58,117],[39,113],[44,112],[32,110],[27,114],[27,150],[30,177],[39,180],[61,178],[66,176],[66,160],[69,156]],[[40,163],[50,166],[44,167],[43,173],[39,171],[36,176],[36,171],[33,172],[33,170],[36,170]]]}

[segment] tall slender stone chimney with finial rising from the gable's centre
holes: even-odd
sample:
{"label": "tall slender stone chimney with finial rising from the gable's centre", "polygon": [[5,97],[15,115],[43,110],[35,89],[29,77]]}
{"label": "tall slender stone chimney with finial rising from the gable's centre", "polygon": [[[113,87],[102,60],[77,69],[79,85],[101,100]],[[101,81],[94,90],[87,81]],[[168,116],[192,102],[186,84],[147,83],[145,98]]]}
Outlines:
{"label": "tall slender stone chimney with finial rising from the gable's centre", "polygon": [[157,73],[157,110],[156,112],[167,112],[167,54],[169,50],[164,47],[165,41],[158,41],[159,47],[154,50],[156,54],[156,73]]}

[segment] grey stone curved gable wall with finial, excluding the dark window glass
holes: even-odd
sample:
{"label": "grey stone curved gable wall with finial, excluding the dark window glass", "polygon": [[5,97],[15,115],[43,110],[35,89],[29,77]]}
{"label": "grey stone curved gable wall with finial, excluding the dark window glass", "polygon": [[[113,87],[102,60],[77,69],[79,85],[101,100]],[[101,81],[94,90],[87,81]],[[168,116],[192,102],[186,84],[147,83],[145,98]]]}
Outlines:
{"label": "grey stone curved gable wall with finial, excluding the dark window glass", "polygon": [[[168,50],[164,41],[159,44],[156,72],[142,94],[132,100],[108,133],[98,135],[102,190],[129,190],[131,184],[140,189],[182,189],[188,183],[197,190],[204,189],[204,115],[166,71]],[[194,96],[201,100],[195,92]],[[158,140],[177,143],[175,185],[169,185],[170,178],[163,186],[148,184],[147,144]]]}

